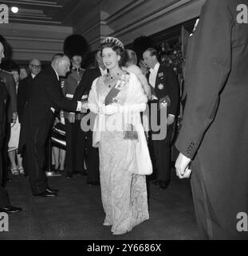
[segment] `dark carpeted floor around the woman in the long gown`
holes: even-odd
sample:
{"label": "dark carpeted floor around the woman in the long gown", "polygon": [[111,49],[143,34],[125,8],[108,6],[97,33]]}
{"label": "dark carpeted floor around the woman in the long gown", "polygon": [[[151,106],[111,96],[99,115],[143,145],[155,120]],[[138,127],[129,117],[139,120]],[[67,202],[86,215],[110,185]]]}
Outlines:
{"label": "dark carpeted floor around the woman in the long gown", "polygon": [[11,178],[6,190],[11,203],[23,211],[9,216],[9,232],[0,232],[0,240],[198,239],[190,183],[175,174],[167,190],[148,182],[150,219],[119,236],[102,226],[100,186],[88,186],[84,176],[49,178],[50,187],[60,190],[57,198],[33,197],[27,178]]}

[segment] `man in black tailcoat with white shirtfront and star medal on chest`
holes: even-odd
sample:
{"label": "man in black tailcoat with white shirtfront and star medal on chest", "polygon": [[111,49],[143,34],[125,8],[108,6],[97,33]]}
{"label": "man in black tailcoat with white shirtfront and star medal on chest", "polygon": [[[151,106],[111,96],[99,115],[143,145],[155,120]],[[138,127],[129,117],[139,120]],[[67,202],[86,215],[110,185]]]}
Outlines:
{"label": "man in black tailcoat with white shirtfront and star medal on chest", "polygon": [[[155,106],[157,120],[155,120],[155,113],[151,108],[151,127],[152,127],[152,146],[155,155],[156,166],[156,181],[155,185],[165,190],[171,180],[171,135],[173,130],[173,123],[177,115],[179,106],[179,85],[175,76],[175,72],[171,67],[160,65],[158,61],[157,51],[153,48],[148,48],[143,54],[144,63],[150,68],[148,74],[148,81],[152,89],[152,106]],[[167,99],[167,117],[160,118],[160,102]],[[161,112],[163,114],[163,112]],[[167,120],[163,122],[163,120]],[[154,130],[155,124],[161,122],[159,131]],[[165,126],[165,127],[164,127]],[[167,126],[167,127],[166,127]],[[154,134],[162,132],[161,130],[167,129],[166,138],[155,138]]]}

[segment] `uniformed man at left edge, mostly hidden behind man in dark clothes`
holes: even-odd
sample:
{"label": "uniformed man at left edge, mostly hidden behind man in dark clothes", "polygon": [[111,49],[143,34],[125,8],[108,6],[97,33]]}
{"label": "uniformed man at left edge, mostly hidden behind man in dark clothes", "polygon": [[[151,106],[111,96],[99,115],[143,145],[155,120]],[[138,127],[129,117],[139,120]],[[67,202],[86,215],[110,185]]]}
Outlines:
{"label": "uniformed man at left edge, mostly hidden behind man in dark clothes", "polygon": [[[0,36],[0,40],[2,45],[6,44],[5,38]],[[10,127],[11,122],[15,123],[17,119],[17,94],[16,94],[16,86],[14,82],[14,77],[11,72],[7,72],[6,70],[0,69],[0,78],[4,82],[6,86],[6,91],[8,94],[7,102],[6,102],[6,130],[5,130],[5,139],[2,146],[2,170],[3,170],[3,178],[2,182],[5,184],[7,180],[7,169],[9,163],[8,156],[8,144],[10,141]]]}

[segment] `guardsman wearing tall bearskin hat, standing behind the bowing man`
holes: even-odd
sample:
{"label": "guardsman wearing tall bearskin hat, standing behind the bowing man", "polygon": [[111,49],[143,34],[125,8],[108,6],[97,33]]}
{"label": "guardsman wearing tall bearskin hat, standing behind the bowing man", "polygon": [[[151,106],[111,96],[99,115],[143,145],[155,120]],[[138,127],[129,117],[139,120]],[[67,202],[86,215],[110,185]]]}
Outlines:
{"label": "guardsman wearing tall bearskin hat, standing behind the bowing man", "polygon": [[[67,78],[62,83],[62,91],[66,98],[73,99],[75,90],[81,82],[85,70],[81,68],[81,63],[87,50],[85,38],[73,34],[65,39],[64,51],[71,59],[71,70]],[[88,95],[83,95],[81,101],[87,101]],[[64,113],[66,130],[66,156],[65,166],[67,178],[71,178],[73,173],[85,174],[84,149],[86,134],[81,130],[81,118],[84,114]]]}

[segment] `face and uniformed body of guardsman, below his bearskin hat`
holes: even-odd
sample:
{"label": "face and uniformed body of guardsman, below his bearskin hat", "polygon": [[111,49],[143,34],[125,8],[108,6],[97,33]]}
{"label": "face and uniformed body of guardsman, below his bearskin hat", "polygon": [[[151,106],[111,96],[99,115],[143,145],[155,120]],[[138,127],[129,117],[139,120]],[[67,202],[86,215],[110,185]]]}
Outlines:
{"label": "face and uniformed body of guardsman, below his bearskin hat", "polygon": [[[75,90],[81,82],[82,75],[85,72],[85,70],[81,68],[81,53],[72,54],[72,68],[70,74],[61,82],[63,94],[66,98],[70,99],[73,99]],[[81,101],[87,100],[87,98],[87,95],[83,95]],[[85,172],[84,158],[82,157],[85,148],[85,133],[80,128],[82,117],[83,114],[76,114],[75,116],[74,113],[64,112],[66,138],[65,166],[67,178],[71,178],[75,172],[81,174],[84,174]]]}

